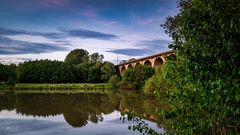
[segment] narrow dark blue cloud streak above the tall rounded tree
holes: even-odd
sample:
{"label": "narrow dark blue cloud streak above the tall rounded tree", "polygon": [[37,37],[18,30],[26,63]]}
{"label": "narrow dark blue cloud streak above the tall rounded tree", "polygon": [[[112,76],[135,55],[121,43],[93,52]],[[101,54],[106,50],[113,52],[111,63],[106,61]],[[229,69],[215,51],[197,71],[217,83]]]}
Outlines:
{"label": "narrow dark blue cloud streak above the tall rounded tree", "polygon": [[67,33],[68,35],[70,35],[72,37],[94,38],[94,39],[100,39],[100,40],[114,40],[114,39],[118,38],[118,36],[113,35],[113,34],[85,30],[85,29],[77,29],[77,30],[60,29],[60,30]]}

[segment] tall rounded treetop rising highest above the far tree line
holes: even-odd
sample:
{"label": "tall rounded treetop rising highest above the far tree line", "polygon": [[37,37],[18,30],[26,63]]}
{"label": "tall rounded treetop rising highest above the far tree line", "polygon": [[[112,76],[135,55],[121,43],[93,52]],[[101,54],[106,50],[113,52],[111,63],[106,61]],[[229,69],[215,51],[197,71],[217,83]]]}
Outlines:
{"label": "tall rounded treetop rising highest above the far tree line", "polygon": [[64,62],[69,64],[80,64],[88,62],[88,51],[83,49],[74,49],[72,50],[65,58]]}

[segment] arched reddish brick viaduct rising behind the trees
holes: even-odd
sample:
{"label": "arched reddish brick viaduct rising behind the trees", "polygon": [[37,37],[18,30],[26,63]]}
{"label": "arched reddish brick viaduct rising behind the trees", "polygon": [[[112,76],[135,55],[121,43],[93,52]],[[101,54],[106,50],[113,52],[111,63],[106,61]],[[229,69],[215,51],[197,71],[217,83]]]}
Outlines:
{"label": "arched reddish brick viaduct rising behind the trees", "polygon": [[150,56],[146,56],[143,58],[139,58],[133,61],[128,61],[125,63],[120,63],[118,65],[115,65],[115,68],[118,70],[118,72],[121,74],[124,70],[128,68],[133,68],[136,65],[146,65],[146,66],[152,66],[152,67],[157,67],[166,62],[166,57],[169,56],[174,56],[173,51],[167,51],[167,52],[162,52],[159,54],[154,54]]}

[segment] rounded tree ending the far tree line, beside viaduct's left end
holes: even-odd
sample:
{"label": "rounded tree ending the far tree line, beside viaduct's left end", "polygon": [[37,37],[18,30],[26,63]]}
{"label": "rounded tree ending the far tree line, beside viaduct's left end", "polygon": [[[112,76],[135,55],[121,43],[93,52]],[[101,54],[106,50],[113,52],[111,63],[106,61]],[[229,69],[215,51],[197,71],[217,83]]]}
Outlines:
{"label": "rounded tree ending the far tree line, beside viaduct's left end", "polygon": [[104,62],[101,67],[101,80],[108,82],[111,76],[116,74],[114,64],[111,62]]}

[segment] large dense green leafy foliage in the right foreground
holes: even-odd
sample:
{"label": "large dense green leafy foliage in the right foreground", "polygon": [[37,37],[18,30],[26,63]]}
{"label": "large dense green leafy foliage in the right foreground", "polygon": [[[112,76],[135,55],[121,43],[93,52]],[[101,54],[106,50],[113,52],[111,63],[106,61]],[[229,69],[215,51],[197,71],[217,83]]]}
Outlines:
{"label": "large dense green leafy foliage in the right foreground", "polygon": [[181,0],[179,7],[180,13],[164,24],[176,53],[175,62],[166,65],[164,78],[176,90],[168,94],[173,108],[160,114],[166,126],[179,134],[222,134],[229,129],[236,133],[240,127],[240,3]]}

